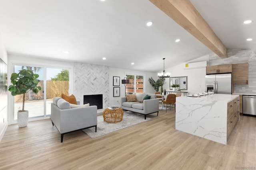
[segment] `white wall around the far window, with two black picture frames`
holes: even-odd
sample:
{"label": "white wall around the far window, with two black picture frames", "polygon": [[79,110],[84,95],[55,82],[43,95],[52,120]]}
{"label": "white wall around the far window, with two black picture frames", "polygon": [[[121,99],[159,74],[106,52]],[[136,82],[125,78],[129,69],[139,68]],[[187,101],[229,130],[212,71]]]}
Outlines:
{"label": "white wall around the far window, with two black picture frames", "polygon": [[[120,102],[121,97],[125,96],[125,87],[124,84],[122,84],[122,79],[124,79],[126,74],[136,74],[136,75],[142,75],[144,76],[144,92],[146,93],[155,93],[154,89],[148,82],[148,78],[153,77],[154,80],[157,80],[157,73],[153,72],[141,72],[141,71],[134,71],[134,70],[124,70],[120,68],[109,68],[109,105],[118,105],[118,102]],[[120,97],[113,97],[113,76],[120,77]],[[118,87],[118,86],[115,86]]]}

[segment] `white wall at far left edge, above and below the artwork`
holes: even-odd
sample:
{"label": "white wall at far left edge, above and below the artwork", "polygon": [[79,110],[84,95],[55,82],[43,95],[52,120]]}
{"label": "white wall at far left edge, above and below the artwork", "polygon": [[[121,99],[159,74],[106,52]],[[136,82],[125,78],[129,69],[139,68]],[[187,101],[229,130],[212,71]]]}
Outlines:
{"label": "white wall at far left edge, above and below the artwork", "polygon": [[[8,63],[7,60],[7,53],[6,53],[6,49],[3,45],[2,42],[2,37],[0,35],[0,58],[2,59],[2,61],[4,61],[4,63]],[[4,109],[0,110],[0,141],[2,139],[2,137],[4,136],[4,132],[6,131],[6,128],[8,126],[8,106],[4,107]]]}

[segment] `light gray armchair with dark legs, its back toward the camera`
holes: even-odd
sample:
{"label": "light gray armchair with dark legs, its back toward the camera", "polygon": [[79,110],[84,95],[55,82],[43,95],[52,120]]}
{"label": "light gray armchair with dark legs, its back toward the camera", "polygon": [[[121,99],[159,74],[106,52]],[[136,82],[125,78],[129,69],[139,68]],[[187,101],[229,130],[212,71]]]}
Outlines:
{"label": "light gray armchair with dark legs, its back toward the camera", "polygon": [[52,125],[63,136],[67,133],[95,127],[97,131],[97,106],[71,108],[62,98],[54,98],[51,104]]}

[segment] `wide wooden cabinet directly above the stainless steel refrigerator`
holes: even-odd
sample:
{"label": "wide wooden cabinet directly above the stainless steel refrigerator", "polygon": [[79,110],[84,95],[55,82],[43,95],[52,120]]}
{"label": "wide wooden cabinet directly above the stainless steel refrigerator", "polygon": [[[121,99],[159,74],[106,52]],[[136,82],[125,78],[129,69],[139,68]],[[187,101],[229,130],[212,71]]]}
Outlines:
{"label": "wide wooden cabinet directly above the stainless steel refrigerator", "polygon": [[231,73],[232,69],[233,69],[232,64],[206,66],[206,74]]}

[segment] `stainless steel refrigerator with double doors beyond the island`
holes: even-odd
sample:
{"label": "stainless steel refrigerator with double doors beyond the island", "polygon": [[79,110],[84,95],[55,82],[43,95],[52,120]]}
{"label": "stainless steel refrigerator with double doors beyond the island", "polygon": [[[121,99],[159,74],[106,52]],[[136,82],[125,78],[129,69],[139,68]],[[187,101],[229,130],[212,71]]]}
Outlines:
{"label": "stainless steel refrigerator with double doors beyond the island", "polygon": [[205,76],[205,90],[218,94],[232,94],[232,78],[229,74],[208,74]]}

